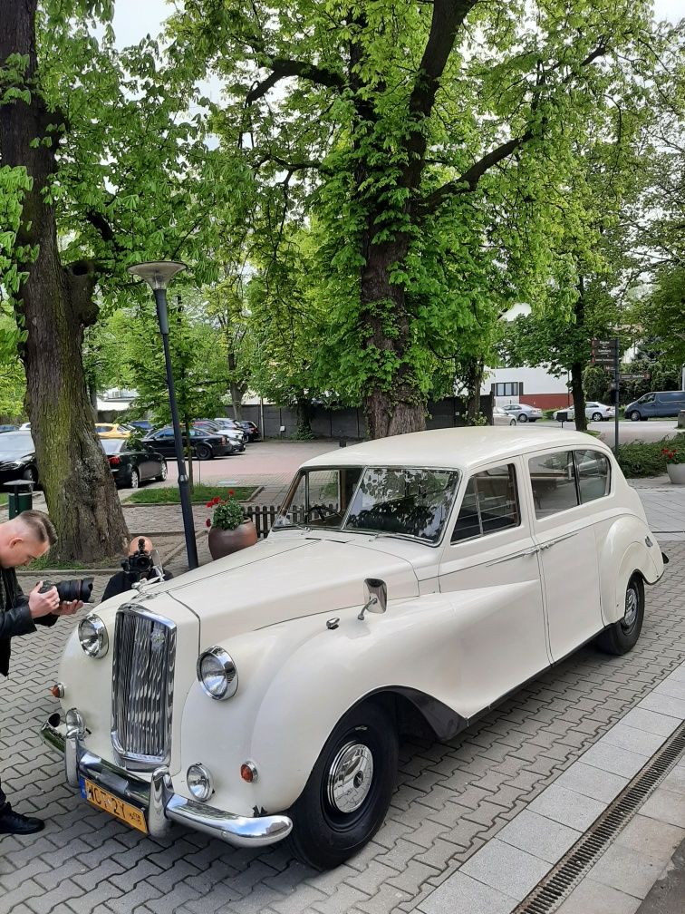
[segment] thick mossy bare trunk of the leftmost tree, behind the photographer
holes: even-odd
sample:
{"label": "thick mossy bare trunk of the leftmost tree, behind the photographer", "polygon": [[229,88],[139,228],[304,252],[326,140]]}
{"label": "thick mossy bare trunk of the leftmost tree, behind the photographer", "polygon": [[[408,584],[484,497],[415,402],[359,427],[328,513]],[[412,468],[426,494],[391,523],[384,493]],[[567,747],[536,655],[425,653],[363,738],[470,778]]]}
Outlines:
{"label": "thick mossy bare trunk of the leftmost tree, behind the photographer", "polygon": [[[0,67],[10,54],[28,58],[26,81],[37,73],[37,0],[0,0]],[[121,554],[129,538],[107,459],[93,427],[81,357],[83,328],[97,318],[93,265],[64,268],[57,226],[43,191],[57,172],[55,150],[42,140],[50,115],[37,90],[30,104],[0,107],[0,165],[25,166],[33,186],[23,200],[16,244],[38,249],[15,299],[26,330],[21,353],[40,482],[50,519],[58,531],[52,556],[60,561],[95,561]]]}

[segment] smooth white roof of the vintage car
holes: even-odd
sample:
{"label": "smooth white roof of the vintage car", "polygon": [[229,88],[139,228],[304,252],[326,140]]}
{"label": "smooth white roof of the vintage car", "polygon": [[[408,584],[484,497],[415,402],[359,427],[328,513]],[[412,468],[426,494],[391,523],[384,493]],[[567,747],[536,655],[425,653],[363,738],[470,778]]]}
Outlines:
{"label": "smooth white roof of the vintage car", "polygon": [[601,441],[582,431],[533,429],[523,426],[479,426],[464,429],[416,431],[352,447],[338,448],[313,457],[305,467],[316,466],[433,466],[468,470],[471,466],[505,460],[516,454],[547,447],[595,448],[611,453]]}

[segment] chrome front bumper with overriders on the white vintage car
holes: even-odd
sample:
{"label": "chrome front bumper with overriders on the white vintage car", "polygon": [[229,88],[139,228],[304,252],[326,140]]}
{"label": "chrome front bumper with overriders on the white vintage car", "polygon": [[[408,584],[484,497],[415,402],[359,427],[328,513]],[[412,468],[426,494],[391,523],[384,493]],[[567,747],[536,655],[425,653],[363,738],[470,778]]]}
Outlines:
{"label": "chrome front bumper with overriders on the white vintage car", "polygon": [[83,718],[76,708],[67,712],[66,721],[58,714],[51,715],[40,730],[47,746],[64,757],[65,774],[72,787],[79,787],[80,779],[87,778],[121,801],[142,810],[148,833],[153,838],[168,834],[172,820],[235,847],[272,845],[292,830],[292,821],[286,815],[247,818],[174,793],[171,775],[165,766],[153,771],[150,781],[138,778],[131,771],[100,759],[86,749],[82,742],[84,734]]}

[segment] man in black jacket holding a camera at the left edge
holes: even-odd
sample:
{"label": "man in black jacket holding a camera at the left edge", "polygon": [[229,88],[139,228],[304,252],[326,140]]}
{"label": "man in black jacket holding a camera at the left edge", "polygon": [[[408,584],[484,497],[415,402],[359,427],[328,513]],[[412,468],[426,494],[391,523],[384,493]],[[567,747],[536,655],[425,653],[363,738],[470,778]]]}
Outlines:
{"label": "man in black jacket holding a camera at the left edge", "polygon": [[[44,556],[57,541],[55,528],[41,511],[24,511],[0,524],[0,673],[9,673],[10,639],[36,631],[36,623],[54,625],[58,616],[77,611],[80,600],[60,602],[56,587],[41,593],[43,581],[28,596],[15,569]],[[32,834],[45,827],[42,819],[15,813],[0,784],[0,834]]]}

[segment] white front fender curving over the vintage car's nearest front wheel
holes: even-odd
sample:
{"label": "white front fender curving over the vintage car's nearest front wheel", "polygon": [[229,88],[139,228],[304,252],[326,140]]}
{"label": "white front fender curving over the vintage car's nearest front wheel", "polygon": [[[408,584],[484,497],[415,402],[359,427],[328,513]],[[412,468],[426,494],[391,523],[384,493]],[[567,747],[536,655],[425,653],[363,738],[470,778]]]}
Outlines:
{"label": "white front fender curving over the vintage car's nearest front wheel", "polygon": [[[212,805],[280,812],[300,796],[338,720],[364,696],[406,686],[454,707],[458,628],[502,599],[501,589],[486,590],[485,597],[474,590],[392,601],[364,622],[358,606],[339,610],[333,629],[326,627],[332,613],[322,613],[231,639],[223,646],[237,664],[237,693],[214,701],[198,684],[191,688],[174,789],[187,795],[187,766],[202,762],[214,776]],[[246,761],[257,767],[257,781],[241,780]]]}

